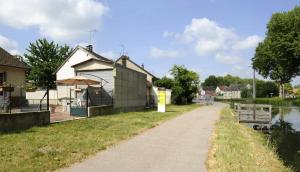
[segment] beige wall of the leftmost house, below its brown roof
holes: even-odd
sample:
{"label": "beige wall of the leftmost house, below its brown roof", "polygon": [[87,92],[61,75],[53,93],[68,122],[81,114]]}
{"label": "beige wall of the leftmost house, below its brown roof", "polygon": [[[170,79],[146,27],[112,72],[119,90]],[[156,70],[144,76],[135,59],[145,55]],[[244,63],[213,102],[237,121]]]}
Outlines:
{"label": "beige wall of the leftmost house, below its brown roof", "polygon": [[22,91],[21,93],[21,88],[25,88],[25,69],[0,66],[0,73],[2,72],[6,72],[6,84],[11,84],[11,86],[14,87],[14,91],[11,93],[11,96],[25,97],[25,92]]}

